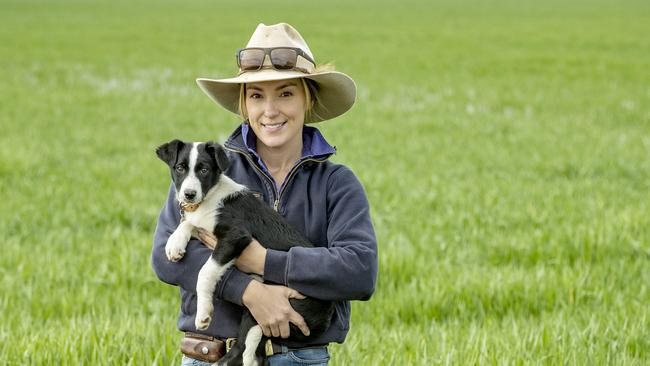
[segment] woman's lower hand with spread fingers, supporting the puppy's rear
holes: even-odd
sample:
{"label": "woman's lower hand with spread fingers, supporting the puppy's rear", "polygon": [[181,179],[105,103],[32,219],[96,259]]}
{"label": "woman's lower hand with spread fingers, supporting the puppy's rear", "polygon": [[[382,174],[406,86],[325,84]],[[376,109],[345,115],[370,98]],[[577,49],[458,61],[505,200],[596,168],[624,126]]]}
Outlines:
{"label": "woman's lower hand with spread fingers, supporting the puppy's rear", "polygon": [[289,323],[297,326],[305,336],[309,328],[305,319],[289,303],[289,299],[304,299],[305,296],[285,286],[265,285],[251,281],[242,295],[242,303],[253,314],[267,337],[289,337]]}

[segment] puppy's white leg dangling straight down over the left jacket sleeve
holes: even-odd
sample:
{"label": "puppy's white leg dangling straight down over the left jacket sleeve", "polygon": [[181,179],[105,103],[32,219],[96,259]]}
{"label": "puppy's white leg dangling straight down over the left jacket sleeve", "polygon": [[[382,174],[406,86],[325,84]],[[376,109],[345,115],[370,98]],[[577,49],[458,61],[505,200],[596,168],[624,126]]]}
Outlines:
{"label": "puppy's white leg dangling straight down over the left jacket sleeve", "polygon": [[194,319],[196,329],[208,329],[210,321],[212,321],[212,312],[214,311],[214,290],[221,277],[223,277],[223,274],[234,262],[235,260],[233,259],[220,265],[213,256],[210,256],[203,267],[201,267],[199,278],[196,281],[196,319]]}

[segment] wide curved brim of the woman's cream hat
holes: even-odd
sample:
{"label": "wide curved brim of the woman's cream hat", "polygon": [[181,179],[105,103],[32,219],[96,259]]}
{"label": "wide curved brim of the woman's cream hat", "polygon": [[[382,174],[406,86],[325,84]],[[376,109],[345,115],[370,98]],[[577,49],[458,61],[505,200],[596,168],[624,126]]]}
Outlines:
{"label": "wide curved brim of the woman's cream hat", "polygon": [[278,81],[305,78],[318,84],[318,98],[312,109],[311,118],[305,123],[321,122],[347,112],[356,97],[354,80],[338,71],[323,71],[305,74],[299,71],[278,71],[265,69],[246,72],[234,78],[198,78],[196,83],[212,100],[227,110],[239,114],[239,89],[241,84],[263,81]]}

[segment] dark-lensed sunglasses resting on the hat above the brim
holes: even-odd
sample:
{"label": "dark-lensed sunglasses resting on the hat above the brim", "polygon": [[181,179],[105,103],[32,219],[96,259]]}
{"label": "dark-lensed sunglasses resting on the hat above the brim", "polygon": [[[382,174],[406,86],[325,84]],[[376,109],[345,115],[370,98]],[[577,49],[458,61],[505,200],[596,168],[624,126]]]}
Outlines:
{"label": "dark-lensed sunglasses resting on the hat above the brim", "polygon": [[303,57],[312,64],[314,60],[300,48],[271,47],[271,48],[242,48],[237,51],[237,66],[239,70],[257,71],[264,66],[264,59],[269,55],[271,65],[276,70],[297,70],[309,73],[309,70],[298,66],[298,56]]}

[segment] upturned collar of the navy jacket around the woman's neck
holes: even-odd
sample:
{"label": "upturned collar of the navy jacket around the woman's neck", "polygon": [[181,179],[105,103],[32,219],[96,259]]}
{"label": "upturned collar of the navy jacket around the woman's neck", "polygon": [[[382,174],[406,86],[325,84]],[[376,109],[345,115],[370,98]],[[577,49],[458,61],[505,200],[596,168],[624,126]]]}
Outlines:
{"label": "upturned collar of the navy jacket around the woman's neck", "polygon": [[[248,123],[244,122],[230,135],[224,143],[226,147],[237,149],[241,152],[261,158],[255,148],[255,133]],[[309,158],[327,159],[336,153],[336,148],[330,145],[320,131],[311,126],[304,126],[302,130],[302,156],[300,160]]]}

